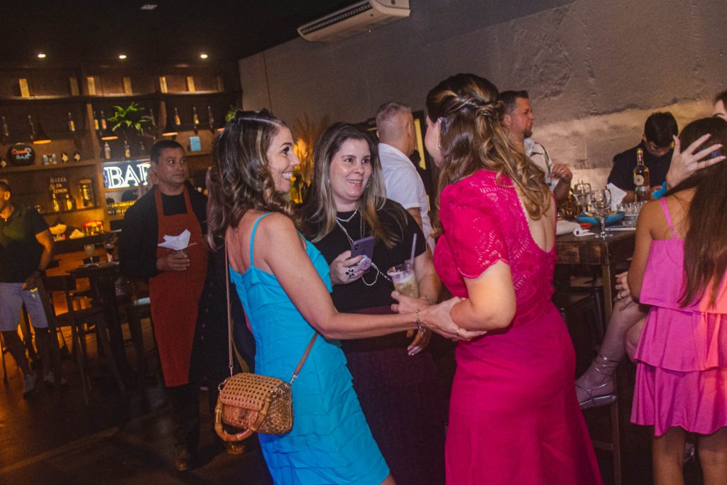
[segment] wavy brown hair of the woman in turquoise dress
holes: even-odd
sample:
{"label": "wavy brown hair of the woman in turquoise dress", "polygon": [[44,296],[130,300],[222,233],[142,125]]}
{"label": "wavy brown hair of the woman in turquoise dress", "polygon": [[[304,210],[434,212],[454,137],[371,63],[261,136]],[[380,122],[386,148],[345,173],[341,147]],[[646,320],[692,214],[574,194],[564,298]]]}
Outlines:
{"label": "wavy brown hair of the woman in turquoise dress", "polygon": [[[268,148],[286,124],[267,110],[238,111],[214,140],[209,174],[209,244],[224,241],[250,209],[293,217],[291,203],[276,191],[268,169]],[[295,221],[295,219],[294,219]]]}

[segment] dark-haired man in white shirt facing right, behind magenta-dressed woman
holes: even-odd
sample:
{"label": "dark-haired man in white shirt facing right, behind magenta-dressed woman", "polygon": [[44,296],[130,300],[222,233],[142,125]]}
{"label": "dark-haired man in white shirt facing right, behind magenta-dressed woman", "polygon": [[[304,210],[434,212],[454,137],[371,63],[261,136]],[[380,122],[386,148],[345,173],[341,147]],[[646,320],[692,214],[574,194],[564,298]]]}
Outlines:
{"label": "dark-haired man in white shirt facing right, behind magenta-dressed woman", "polygon": [[550,185],[555,200],[568,199],[573,174],[566,164],[553,164],[545,147],[531,139],[535,115],[527,91],[503,91],[500,100],[505,103],[502,124],[510,130],[510,141],[523,151],[545,172],[545,182]]}

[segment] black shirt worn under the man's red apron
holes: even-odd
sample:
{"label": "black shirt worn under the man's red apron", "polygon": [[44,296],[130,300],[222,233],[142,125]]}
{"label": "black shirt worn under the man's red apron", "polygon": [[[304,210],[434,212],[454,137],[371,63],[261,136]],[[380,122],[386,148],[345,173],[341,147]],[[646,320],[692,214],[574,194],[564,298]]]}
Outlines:
{"label": "black shirt worn under the man's red apron", "polygon": [[[156,245],[158,244],[158,219],[156,217],[156,201],[152,188],[136,201],[124,215],[124,225],[119,237],[119,268],[121,274],[132,278],[148,279],[156,276]],[[187,185],[192,210],[206,233],[207,198]],[[165,196],[161,194],[161,207],[164,215],[176,215],[187,212],[184,194]]]}

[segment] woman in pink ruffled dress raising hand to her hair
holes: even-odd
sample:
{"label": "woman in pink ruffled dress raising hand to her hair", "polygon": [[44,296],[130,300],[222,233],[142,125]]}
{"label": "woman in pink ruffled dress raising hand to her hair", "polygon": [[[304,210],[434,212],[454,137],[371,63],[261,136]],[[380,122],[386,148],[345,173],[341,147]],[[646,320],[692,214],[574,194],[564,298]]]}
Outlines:
{"label": "woman in pink ruffled dress raising hand to her hair", "polygon": [[[727,121],[718,118],[688,124],[680,144],[707,133],[709,144],[727,145]],[[646,204],[636,228],[628,282],[651,310],[636,348],[631,420],[654,426],[656,484],[683,484],[686,432],[698,435],[704,484],[727,484],[726,270],[727,164],[720,162]]]}

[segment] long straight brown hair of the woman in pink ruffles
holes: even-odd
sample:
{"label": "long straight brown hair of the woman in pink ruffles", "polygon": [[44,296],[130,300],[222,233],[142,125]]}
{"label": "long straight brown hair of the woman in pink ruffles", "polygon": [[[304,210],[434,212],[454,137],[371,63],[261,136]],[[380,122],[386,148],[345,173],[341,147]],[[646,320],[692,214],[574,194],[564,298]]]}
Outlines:
{"label": "long straight brown hair of the woman in pink ruffles", "polygon": [[[702,135],[712,135],[699,151],[714,143],[727,146],[727,121],[721,118],[702,118],[686,125],[679,135],[682,147],[688,147]],[[710,158],[724,155],[719,148]],[[697,170],[667,193],[694,188],[687,211],[688,228],[684,237],[684,288],[680,299],[683,307],[709,292],[714,305],[720,282],[727,270],[727,164],[720,161]]]}

